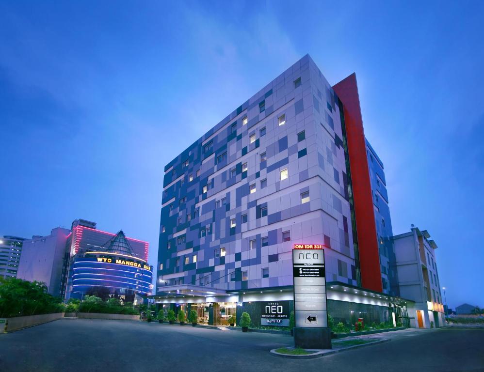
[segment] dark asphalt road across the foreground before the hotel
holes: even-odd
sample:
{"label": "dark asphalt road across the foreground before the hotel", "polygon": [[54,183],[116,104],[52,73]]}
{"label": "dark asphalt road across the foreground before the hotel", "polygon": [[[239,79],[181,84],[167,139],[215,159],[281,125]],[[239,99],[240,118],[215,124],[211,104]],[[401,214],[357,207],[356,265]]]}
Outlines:
{"label": "dark asphalt road across the foreground before the hotel", "polygon": [[0,334],[0,371],[484,371],[484,329],[409,329],[375,336],[391,341],[292,360],[269,354],[291,345],[290,336],[63,319]]}

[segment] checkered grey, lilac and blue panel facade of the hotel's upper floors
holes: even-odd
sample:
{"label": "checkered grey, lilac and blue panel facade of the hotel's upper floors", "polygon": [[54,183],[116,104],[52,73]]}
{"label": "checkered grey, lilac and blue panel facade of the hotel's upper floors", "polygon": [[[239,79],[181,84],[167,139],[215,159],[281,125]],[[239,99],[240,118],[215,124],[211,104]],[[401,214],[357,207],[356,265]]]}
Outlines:
{"label": "checkered grey, lilac and blue panel facade of the hotel's upper floors", "polygon": [[356,285],[340,106],[307,55],[166,165],[157,292],[292,285],[299,243]]}

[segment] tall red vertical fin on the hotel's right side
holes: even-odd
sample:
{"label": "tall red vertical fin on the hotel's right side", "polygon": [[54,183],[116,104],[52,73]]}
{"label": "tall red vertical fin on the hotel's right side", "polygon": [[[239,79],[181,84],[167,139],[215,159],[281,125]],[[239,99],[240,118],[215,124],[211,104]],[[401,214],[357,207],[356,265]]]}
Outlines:
{"label": "tall red vertical fin on the hotel's right side", "polygon": [[380,253],[371,196],[370,171],[355,73],[341,80],[333,89],[343,103],[355,204],[361,285],[364,288],[382,292]]}

